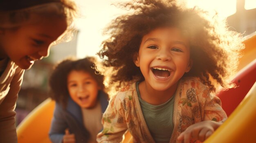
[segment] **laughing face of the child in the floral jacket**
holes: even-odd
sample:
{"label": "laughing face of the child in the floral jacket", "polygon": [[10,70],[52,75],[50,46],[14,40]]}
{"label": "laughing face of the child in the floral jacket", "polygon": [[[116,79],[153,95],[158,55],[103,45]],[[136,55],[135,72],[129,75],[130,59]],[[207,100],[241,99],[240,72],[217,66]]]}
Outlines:
{"label": "laughing face of the child in the floral jacket", "polygon": [[135,60],[148,87],[166,91],[191,68],[189,41],[173,27],[144,35]]}

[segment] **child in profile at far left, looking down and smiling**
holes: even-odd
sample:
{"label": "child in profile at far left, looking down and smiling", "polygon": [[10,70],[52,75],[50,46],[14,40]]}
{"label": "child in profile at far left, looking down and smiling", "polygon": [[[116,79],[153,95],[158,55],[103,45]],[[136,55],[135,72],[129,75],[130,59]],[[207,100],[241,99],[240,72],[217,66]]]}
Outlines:
{"label": "child in profile at far left, looking down and smiling", "polygon": [[51,43],[70,31],[75,14],[69,0],[0,1],[1,143],[17,142],[14,108],[24,70],[47,57]]}

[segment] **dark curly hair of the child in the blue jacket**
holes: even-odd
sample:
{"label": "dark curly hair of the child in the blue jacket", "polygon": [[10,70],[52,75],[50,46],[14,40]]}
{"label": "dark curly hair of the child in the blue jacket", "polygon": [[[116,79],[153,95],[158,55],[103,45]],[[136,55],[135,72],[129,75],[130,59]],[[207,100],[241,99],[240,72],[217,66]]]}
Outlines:
{"label": "dark curly hair of the child in the blue jacket", "polygon": [[85,71],[90,73],[97,81],[103,92],[105,86],[103,84],[104,76],[97,72],[97,59],[95,57],[85,57],[83,59],[75,59],[68,57],[54,67],[52,75],[49,77],[50,97],[65,108],[67,99],[70,97],[67,89],[67,76],[73,70]]}

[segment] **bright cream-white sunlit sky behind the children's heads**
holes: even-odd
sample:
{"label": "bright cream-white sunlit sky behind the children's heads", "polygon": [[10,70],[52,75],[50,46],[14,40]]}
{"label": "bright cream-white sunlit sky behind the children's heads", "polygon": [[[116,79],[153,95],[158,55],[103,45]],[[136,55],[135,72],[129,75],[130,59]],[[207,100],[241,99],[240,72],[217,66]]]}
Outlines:
{"label": "bright cream-white sunlit sky behind the children's heads", "polygon": [[[99,51],[101,41],[105,39],[102,36],[104,27],[117,15],[127,12],[111,4],[124,1],[76,0],[83,15],[77,24],[79,29],[78,57],[95,55]],[[188,7],[198,6],[206,11],[217,11],[222,18],[236,13],[236,0],[186,0],[186,2]],[[255,5],[255,0],[246,0],[245,7],[248,5]]]}

